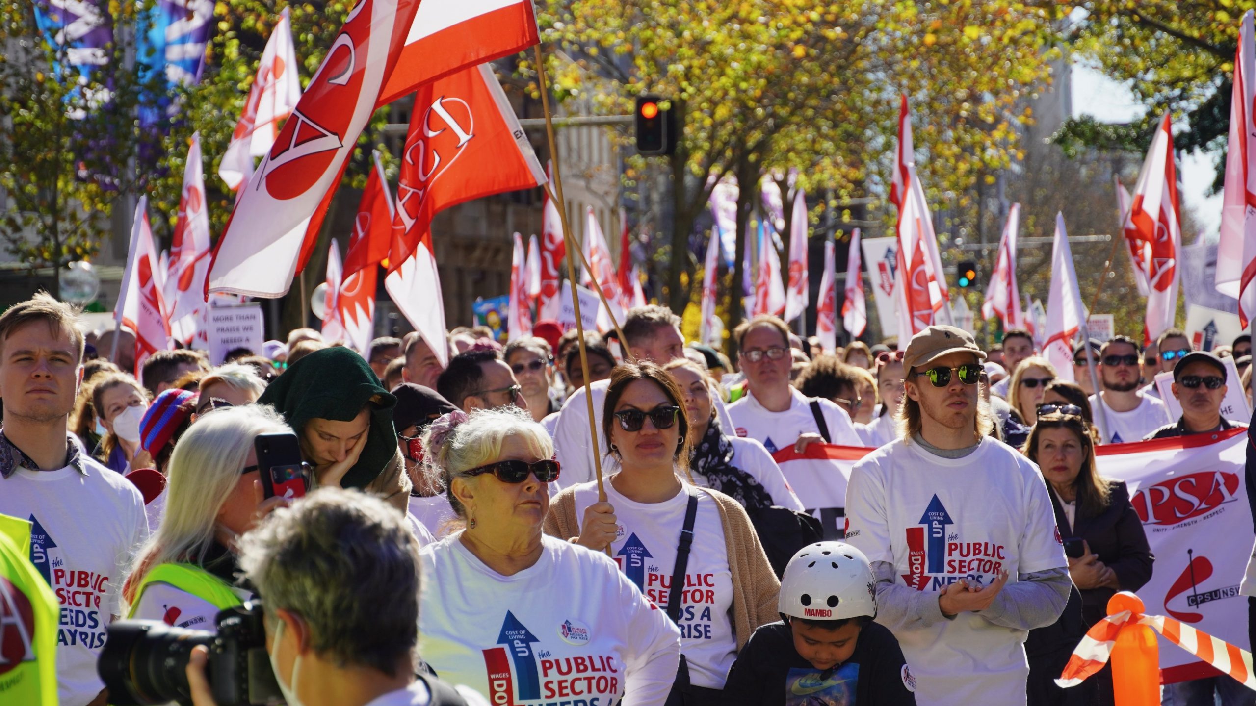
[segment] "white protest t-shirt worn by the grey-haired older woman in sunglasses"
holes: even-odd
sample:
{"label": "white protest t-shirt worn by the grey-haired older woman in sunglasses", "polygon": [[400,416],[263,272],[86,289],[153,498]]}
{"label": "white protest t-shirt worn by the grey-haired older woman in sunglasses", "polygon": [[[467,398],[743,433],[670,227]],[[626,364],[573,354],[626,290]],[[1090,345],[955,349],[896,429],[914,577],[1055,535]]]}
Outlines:
{"label": "white protest t-shirt worn by the grey-haired older woman in sunglasses", "polygon": [[[679,632],[605,554],[553,536],[531,567],[504,577],[461,533],[420,553],[420,656],[491,703],[662,706]],[[438,578],[437,578],[438,577]]]}

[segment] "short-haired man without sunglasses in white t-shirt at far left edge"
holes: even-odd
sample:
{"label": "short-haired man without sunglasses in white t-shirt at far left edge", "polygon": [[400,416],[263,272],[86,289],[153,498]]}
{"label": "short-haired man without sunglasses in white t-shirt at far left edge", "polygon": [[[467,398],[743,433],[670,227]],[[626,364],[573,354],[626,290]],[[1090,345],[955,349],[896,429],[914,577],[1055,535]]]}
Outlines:
{"label": "short-haired man without sunglasses in white t-shirt at far left edge", "polygon": [[60,703],[97,706],[106,693],[95,661],[148,520],[139,490],[69,436],[83,376],[75,318],[43,293],[0,315],[0,514],[30,520],[30,560],[60,600]]}

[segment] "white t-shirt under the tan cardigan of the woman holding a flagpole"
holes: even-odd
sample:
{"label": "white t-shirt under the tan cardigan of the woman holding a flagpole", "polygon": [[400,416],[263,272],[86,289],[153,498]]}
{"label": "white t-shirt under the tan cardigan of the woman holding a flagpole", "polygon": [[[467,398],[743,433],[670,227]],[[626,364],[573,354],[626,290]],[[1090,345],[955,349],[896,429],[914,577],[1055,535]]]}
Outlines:
{"label": "white t-shirt under the tan cardigan of the woman holding a flagpole", "polygon": [[[620,495],[609,479],[603,486],[619,520],[610,557],[628,580],[666,612],[690,495],[682,490],[663,502],[634,502]],[[681,593],[681,652],[690,666],[691,683],[723,688],[728,670],[737,660],[737,636],[730,616],[732,570],[716,500],[706,491],[697,494],[698,514]],[[597,482],[575,486],[577,518],[583,520],[585,508],[597,501]]]}

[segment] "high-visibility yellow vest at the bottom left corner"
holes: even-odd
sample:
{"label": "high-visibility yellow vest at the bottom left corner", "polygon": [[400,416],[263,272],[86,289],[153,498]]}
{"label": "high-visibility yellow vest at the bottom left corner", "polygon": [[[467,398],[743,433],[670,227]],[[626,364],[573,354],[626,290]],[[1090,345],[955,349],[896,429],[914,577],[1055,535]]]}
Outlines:
{"label": "high-visibility yellow vest at the bottom left corner", "polygon": [[57,706],[57,594],[30,563],[30,523],[0,515],[0,703]]}

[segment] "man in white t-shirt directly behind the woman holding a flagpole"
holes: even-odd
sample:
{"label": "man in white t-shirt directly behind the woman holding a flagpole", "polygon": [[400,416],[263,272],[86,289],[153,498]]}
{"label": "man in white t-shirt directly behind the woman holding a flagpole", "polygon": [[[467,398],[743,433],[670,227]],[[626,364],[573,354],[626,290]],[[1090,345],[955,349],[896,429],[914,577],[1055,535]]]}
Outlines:
{"label": "man in white t-shirt directly behind the woman holding a flagpole", "polygon": [[[628,309],[623,324],[619,327],[628,338],[628,349],[638,361],[649,361],[662,366],[663,363],[685,357],[685,337],[681,335],[681,318],[666,307],[649,304]],[[598,451],[602,453],[603,472],[612,471],[612,457],[607,455],[607,440],[602,433],[602,407],[607,399],[607,386],[609,379],[594,382],[589,386],[593,393],[593,421],[598,428]],[[558,423],[554,427],[554,452],[558,462],[563,467],[556,484],[551,484],[554,490],[569,487],[578,482],[594,480],[593,469],[593,443],[589,440],[589,406],[585,402],[584,388],[578,387],[558,415]],[[721,402],[716,402],[716,413],[721,415],[725,428],[731,426],[723,412]]]}

